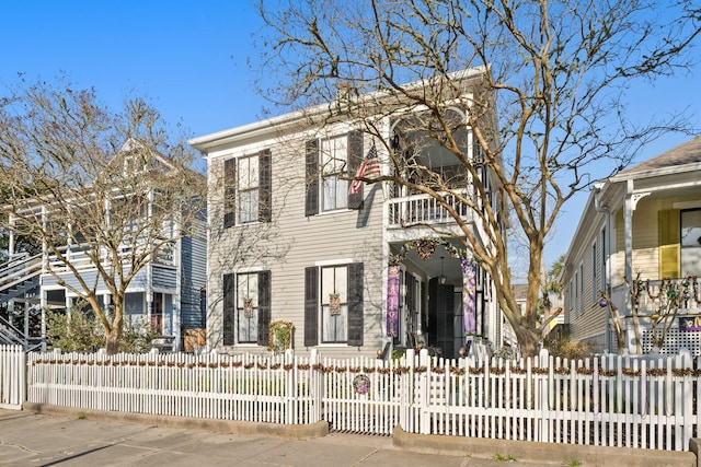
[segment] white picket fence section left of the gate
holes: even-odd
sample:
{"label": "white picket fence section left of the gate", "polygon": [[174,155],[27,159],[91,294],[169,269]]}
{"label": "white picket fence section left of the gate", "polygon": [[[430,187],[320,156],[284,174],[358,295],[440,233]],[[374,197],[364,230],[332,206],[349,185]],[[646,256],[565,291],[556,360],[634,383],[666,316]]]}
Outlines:
{"label": "white picket fence section left of the gate", "polygon": [[84,409],[303,424],[320,374],[290,355],[30,353],[27,399]]}

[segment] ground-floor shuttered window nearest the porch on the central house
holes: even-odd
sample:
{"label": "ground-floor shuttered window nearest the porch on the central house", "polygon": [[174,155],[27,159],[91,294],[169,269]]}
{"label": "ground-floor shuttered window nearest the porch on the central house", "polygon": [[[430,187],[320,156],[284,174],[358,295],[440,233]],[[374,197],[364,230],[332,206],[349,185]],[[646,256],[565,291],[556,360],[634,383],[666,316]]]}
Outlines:
{"label": "ground-floor shuttered window nearest the porch on the central house", "polygon": [[304,346],[363,346],[363,264],[304,270]]}

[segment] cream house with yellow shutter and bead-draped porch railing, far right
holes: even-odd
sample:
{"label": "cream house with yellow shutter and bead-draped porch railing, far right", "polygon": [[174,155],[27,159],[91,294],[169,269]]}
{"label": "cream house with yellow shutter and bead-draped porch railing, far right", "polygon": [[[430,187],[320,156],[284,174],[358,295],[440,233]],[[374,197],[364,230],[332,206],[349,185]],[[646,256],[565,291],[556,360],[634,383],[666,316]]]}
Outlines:
{"label": "cream house with yellow shutter and bead-draped porch railing, far right", "polygon": [[647,353],[654,347],[653,323],[660,336],[667,317],[660,351],[686,348],[701,354],[700,259],[697,137],[606,179],[589,196],[561,281],[572,337],[616,352],[614,307],[627,351],[636,351],[635,320]]}

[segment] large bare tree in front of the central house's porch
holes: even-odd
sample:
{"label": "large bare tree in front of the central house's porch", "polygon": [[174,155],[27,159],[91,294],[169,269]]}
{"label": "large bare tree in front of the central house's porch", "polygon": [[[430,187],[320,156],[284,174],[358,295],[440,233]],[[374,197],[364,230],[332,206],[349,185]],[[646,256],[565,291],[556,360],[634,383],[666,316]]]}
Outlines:
{"label": "large bare tree in front of the central house's porch", "polygon": [[[688,70],[685,52],[701,16],[692,3],[263,0],[264,69],[280,77],[279,87],[265,92],[302,108],[334,103],[331,115],[359,121],[382,141],[391,170],[363,180],[429,195],[450,212],[495,281],[521,352],[533,354],[542,252],[563,205],[683,124],[654,113],[645,125],[632,121],[624,98],[634,80]],[[469,72],[461,70],[482,72],[466,86]],[[455,118],[456,106],[464,118]],[[377,126],[383,116],[412,110],[402,133],[421,135],[414,145],[437,144],[450,154],[462,179],[472,180],[471,196],[453,183],[455,173],[406,154]],[[466,153],[467,133],[479,156]],[[490,202],[482,166],[495,177],[501,202]],[[449,197],[472,209],[489,242],[473,234]],[[503,229],[505,212],[513,232]],[[512,293],[513,235],[528,245],[524,314]]]}

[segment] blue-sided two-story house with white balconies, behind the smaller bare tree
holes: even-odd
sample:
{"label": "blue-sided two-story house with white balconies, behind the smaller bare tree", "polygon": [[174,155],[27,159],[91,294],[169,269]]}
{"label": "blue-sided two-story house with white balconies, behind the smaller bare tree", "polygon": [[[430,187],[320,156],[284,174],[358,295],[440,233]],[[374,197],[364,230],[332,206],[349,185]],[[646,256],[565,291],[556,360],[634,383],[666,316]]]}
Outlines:
{"label": "blue-sided two-story house with white balconies, behind the smaller bare tree", "polygon": [[[183,211],[164,208],[160,200],[165,198],[163,191],[171,188],[150,186],[147,172],[159,171],[169,176],[169,172],[175,173],[173,165],[169,157],[156,153],[148,165],[140,166],[137,156],[131,155],[138,153],[135,147],[138,143],[129,140],[116,153],[111,164],[118,164],[122,168],[111,170],[110,176],[124,170],[130,180],[140,180],[139,189],[130,190],[118,185],[110,188],[103,184],[100,195],[95,196],[88,187],[81,195],[62,200],[64,211],[57,212],[66,213],[66,207],[70,206],[70,219],[51,219],[58,196],[21,200],[12,208],[11,223],[19,224],[23,219],[42,222],[44,219],[46,224],[56,222],[57,227],[53,233],[54,243],[48,245],[45,241],[34,255],[15,250],[15,234],[9,230],[9,262],[0,268],[0,301],[12,311],[11,316],[24,315],[24,318],[2,324],[8,339],[19,342],[45,338],[45,312],[48,310],[70,311],[82,306],[89,311],[89,306],[80,303],[80,292],[85,287],[94,288],[104,308],[110,308],[113,300],[105,280],[113,280],[119,285],[119,280],[129,275],[134,265],[146,261],[126,287],[125,320],[150,324],[157,332],[173,338],[174,349],[186,347],[186,335],[191,337],[191,343],[196,342],[198,335],[204,341],[206,323],[202,295],[206,285],[206,211],[198,203],[187,202],[182,203],[183,209],[197,206],[197,212],[184,215]],[[188,179],[199,179],[204,186],[202,174],[188,173],[192,174]],[[96,185],[94,190],[97,190]],[[176,197],[169,195],[168,202]],[[159,210],[164,211],[163,219],[157,218]],[[85,215],[95,219],[88,220]],[[89,226],[81,230],[72,225],[80,219],[85,219]],[[107,232],[101,236],[102,243],[91,242],[84,236],[91,229]],[[119,236],[116,241],[120,242],[113,250],[106,246],[112,241],[104,240],[110,232],[115,238]],[[156,248],[154,244],[160,246]],[[95,264],[96,257],[100,257],[100,268]],[[115,272],[115,261],[120,261],[122,272]],[[110,271],[113,271],[112,276]],[[33,335],[30,329],[31,313],[41,314],[42,336],[36,336],[36,330]],[[192,345],[187,347],[192,348]]]}

